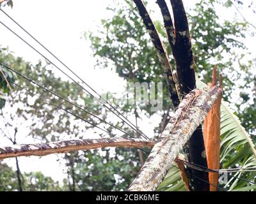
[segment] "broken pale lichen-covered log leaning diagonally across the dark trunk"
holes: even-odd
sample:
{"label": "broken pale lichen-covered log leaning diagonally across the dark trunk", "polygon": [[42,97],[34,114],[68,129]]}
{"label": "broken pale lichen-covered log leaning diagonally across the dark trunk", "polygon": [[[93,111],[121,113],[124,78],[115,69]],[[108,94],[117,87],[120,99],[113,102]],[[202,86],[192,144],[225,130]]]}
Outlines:
{"label": "broken pale lichen-covered log leaning diagonally across the dark trunk", "polygon": [[185,96],[128,191],[156,190],[179,150],[204,120],[220,93],[219,87],[206,87]]}

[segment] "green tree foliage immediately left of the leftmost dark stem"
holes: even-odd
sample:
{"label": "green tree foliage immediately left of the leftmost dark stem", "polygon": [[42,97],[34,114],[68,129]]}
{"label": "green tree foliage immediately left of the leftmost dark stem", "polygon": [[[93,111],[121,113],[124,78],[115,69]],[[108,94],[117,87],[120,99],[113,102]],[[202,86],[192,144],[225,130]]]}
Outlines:
{"label": "green tree foliage immediately left of the leftmost dark stem", "polygon": [[[156,49],[152,45],[138,11],[132,1],[115,1],[107,10],[113,17],[102,20],[99,33],[90,33],[93,56],[97,66],[110,66],[127,82],[163,82],[163,69],[158,60]],[[157,28],[163,29],[159,23]],[[166,110],[170,99],[164,85],[163,109]],[[159,93],[158,93],[159,94]],[[125,106],[126,112],[132,112],[133,106]],[[141,108],[141,107],[140,107]],[[142,107],[149,115],[150,106]]]}

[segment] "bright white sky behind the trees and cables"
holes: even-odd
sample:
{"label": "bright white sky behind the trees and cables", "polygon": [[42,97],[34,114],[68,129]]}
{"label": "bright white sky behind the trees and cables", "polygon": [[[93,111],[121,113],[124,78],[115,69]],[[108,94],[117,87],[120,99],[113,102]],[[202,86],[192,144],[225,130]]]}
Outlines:
{"label": "bright white sky behind the trees and cables", "polygon": [[[95,31],[97,26],[100,25],[100,20],[108,17],[106,6],[112,2],[110,0],[79,0],[75,1],[75,3],[67,0],[13,0],[13,9],[10,7],[2,9],[17,20],[20,25],[26,28],[45,47],[49,48],[51,52],[60,57],[61,60],[97,91],[122,92],[124,91],[125,83],[114,71],[93,69],[95,61],[89,47],[90,44],[83,38],[84,31]],[[151,8],[155,5],[152,3],[150,3]],[[193,5],[193,3],[195,1],[184,1],[187,7]],[[219,8],[218,11],[223,17],[230,17],[230,13],[225,13],[225,10]],[[157,12],[154,13],[154,16],[157,16]],[[246,15],[249,14],[245,13]],[[0,19],[14,31],[22,34],[24,39],[29,39],[2,12],[0,12]],[[248,38],[245,43],[248,47],[253,48],[251,38]],[[38,48],[36,44],[33,45]],[[10,31],[5,29],[3,25],[0,25],[0,46],[8,46],[11,51],[15,52],[15,55],[24,57],[26,61],[37,62],[38,59],[42,59],[40,55],[22,43]],[[42,49],[40,48],[40,50]],[[256,53],[253,49],[251,51]],[[45,55],[49,57],[48,54]],[[52,59],[51,57],[49,58]],[[150,120],[143,120],[141,129],[145,131],[146,135],[152,134],[154,129],[154,126],[150,124],[152,121],[158,122],[159,118],[154,117]],[[0,146],[3,143],[1,141]],[[20,169],[22,171],[42,171],[45,175],[49,175],[55,180],[62,180],[63,167],[59,166],[56,158],[55,155],[42,158],[20,157]],[[14,162],[15,159],[6,159],[6,163],[12,166],[15,166]]]}

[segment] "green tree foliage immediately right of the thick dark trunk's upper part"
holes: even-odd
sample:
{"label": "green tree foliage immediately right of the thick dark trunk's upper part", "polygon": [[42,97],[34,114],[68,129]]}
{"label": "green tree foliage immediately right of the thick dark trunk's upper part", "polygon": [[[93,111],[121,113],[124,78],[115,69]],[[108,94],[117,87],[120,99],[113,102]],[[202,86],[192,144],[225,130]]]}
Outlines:
{"label": "green tree foliage immediately right of the thick dark trunk's upper part", "polygon": [[235,85],[233,79],[239,77],[237,70],[234,69],[234,62],[244,57],[235,50],[245,49],[241,39],[245,37],[247,24],[237,20],[230,22],[221,19],[215,8],[214,1],[200,1],[193,10],[195,14],[188,15],[192,48],[196,71],[202,74],[205,82],[211,81],[212,62],[218,64],[218,69],[223,73],[223,87],[228,87],[223,97],[229,101],[228,96]]}

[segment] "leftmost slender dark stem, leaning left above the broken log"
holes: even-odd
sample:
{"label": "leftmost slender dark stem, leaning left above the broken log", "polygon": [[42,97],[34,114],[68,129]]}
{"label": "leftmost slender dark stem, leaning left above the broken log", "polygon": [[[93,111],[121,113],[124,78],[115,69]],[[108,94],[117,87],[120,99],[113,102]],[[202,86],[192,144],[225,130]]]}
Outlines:
{"label": "leftmost slender dark stem, leaning left above the broken log", "polygon": [[168,59],[168,54],[166,52],[166,48],[164,48],[164,44],[159,38],[159,34],[157,33],[156,27],[152,22],[148,11],[145,8],[145,5],[141,0],[133,0],[136,4],[138,11],[140,13],[141,18],[147,28],[147,31],[150,35],[150,38],[154,44],[154,47],[157,50],[157,54],[159,56],[159,60],[161,61],[162,67],[164,69],[164,78],[168,85],[168,91],[170,94],[170,98],[172,99],[172,103],[174,108],[176,108],[180,103],[180,96],[177,90],[177,83],[175,82],[175,78],[173,77],[172,66]]}

